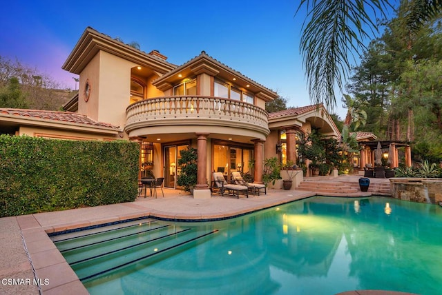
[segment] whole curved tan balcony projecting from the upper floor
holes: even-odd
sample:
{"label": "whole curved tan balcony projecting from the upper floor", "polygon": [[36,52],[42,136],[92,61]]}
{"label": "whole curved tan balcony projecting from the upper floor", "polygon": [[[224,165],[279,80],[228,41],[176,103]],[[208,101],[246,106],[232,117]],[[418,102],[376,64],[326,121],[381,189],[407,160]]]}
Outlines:
{"label": "whole curved tan balcony projecting from the upper floor", "polygon": [[[126,109],[126,132],[130,136],[164,132],[240,134],[265,139],[270,133],[267,112],[262,108],[211,96],[164,96],[145,99]],[[162,131],[160,129],[162,128]]]}

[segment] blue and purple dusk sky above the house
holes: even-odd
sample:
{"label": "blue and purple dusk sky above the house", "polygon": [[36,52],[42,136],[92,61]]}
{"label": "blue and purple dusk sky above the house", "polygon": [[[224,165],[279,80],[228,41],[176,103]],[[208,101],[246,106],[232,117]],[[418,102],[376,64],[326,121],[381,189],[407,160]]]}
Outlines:
{"label": "blue and purple dusk sky above the house", "polygon": [[[19,60],[75,89],[77,75],[61,69],[86,27],[158,50],[182,65],[209,56],[287,99],[310,105],[299,39],[299,0],[253,1],[4,1],[0,56]],[[10,13],[5,13],[10,12]],[[345,118],[340,103],[334,112]]]}

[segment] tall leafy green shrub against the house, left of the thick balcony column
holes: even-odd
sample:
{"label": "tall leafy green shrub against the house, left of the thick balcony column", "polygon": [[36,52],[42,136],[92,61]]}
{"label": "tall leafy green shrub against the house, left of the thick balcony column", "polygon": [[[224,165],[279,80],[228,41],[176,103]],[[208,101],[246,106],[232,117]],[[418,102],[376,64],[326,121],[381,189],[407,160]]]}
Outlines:
{"label": "tall leafy green shrub against the house, left of the thick balcony column", "polygon": [[178,159],[178,165],[181,171],[177,176],[177,185],[183,187],[185,192],[193,191],[198,178],[198,154],[195,148],[180,151],[181,158]]}

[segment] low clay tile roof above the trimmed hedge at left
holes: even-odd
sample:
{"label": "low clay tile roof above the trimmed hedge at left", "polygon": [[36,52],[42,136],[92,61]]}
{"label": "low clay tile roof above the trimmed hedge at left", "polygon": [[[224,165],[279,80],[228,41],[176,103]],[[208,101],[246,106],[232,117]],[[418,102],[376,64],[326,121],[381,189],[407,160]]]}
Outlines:
{"label": "low clay tile roof above the trimmed hedge at left", "polygon": [[83,124],[83,125],[119,130],[118,126],[114,126],[109,123],[94,121],[93,119],[89,119],[87,116],[83,114],[77,114],[75,112],[56,112],[56,111],[47,111],[47,110],[23,110],[23,109],[12,109],[12,108],[0,108],[0,114],[26,116],[41,121],[46,120],[54,122],[56,121],[70,122],[75,124]]}

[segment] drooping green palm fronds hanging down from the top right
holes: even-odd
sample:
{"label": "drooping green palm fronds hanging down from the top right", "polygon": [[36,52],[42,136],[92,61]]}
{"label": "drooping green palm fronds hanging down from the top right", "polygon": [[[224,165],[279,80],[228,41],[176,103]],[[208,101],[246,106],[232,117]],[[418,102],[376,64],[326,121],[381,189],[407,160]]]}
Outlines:
{"label": "drooping green palm fronds hanging down from the top right", "polygon": [[[407,26],[420,26],[442,11],[442,0],[401,0],[410,7]],[[324,103],[329,111],[336,105],[335,85],[343,92],[350,71],[349,56],[365,48],[363,39],[377,30],[376,17],[392,8],[388,0],[301,0],[296,14],[307,6],[302,25],[300,53],[311,101]],[[369,12],[373,12],[372,16]]]}

